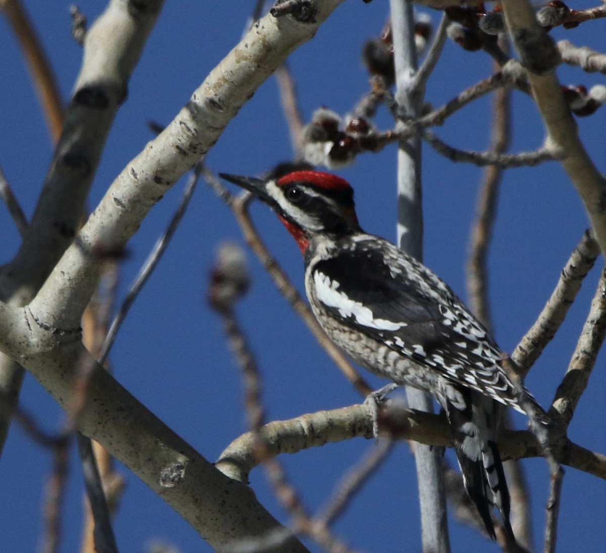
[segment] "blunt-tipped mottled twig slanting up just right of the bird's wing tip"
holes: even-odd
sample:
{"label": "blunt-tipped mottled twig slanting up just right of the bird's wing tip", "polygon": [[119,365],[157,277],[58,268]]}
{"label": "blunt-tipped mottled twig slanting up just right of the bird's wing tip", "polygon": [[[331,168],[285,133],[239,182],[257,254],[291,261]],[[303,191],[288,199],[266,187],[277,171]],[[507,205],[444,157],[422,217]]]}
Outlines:
{"label": "blunt-tipped mottled twig slanting up just right of the bird's wing tip", "polygon": [[564,322],[570,305],[581,289],[582,280],[593,267],[599,253],[599,246],[593,235],[590,231],[585,231],[562,270],[551,297],[545,303],[534,325],[522,337],[511,355],[522,374],[528,373],[530,367]]}

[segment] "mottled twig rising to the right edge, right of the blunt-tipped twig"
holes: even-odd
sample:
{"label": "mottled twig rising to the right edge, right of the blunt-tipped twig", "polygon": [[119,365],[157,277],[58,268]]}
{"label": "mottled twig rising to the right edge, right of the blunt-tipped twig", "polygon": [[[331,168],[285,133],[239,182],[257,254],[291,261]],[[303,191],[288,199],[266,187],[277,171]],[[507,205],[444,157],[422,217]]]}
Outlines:
{"label": "mottled twig rising to the right edge, right of the blunt-tipped twig", "polygon": [[548,414],[557,417],[567,427],[574,415],[574,409],[587,388],[587,382],[598,357],[598,352],[606,336],[606,273],[602,270],[598,288],[591,302],[591,308],[576,344],[572,359],[556,390],[556,396]]}

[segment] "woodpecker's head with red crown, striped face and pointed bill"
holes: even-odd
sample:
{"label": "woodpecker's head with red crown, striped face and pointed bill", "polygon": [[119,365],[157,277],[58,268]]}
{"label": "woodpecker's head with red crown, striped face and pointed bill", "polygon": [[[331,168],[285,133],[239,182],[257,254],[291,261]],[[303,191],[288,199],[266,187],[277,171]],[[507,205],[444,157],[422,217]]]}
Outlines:
{"label": "woodpecker's head with red crown, striped face and pointed bill", "polygon": [[249,190],[277,214],[305,255],[319,234],[342,236],[360,230],[353,188],[341,177],[319,171],[294,171],[278,179],[219,174]]}

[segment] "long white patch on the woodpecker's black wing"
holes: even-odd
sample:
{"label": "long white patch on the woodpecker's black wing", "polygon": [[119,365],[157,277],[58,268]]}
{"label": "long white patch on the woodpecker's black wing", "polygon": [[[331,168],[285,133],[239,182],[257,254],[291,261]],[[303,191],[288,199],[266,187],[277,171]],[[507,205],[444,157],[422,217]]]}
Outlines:
{"label": "long white patch on the woodpecker's black wing", "polygon": [[375,319],[370,308],[361,302],[347,297],[347,294],[338,290],[339,283],[330,280],[324,273],[316,271],[313,275],[313,283],[316,287],[316,297],[324,305],[339,310],[341,317],[354,317],[360,325],[377,330],[398,330],[407,326],[406,323],[396,323],[387,319]]}

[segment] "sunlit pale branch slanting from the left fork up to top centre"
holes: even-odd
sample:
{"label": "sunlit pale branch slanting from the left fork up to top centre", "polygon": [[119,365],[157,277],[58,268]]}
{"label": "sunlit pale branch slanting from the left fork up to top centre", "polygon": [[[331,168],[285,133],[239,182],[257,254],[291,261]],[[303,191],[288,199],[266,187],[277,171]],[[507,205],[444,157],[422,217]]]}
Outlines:
{"label": "sunlit pale branch slanting from the left fork up to top centre", "polygon": [[251,27],[176,118],[113,182],[32,302],[39,320],[53,328],[78,325],[99,278],[96,251],[124,247],[148,211],[210,150],[262,82],[341,2],[319,2],[313,24],[267,15]]}

